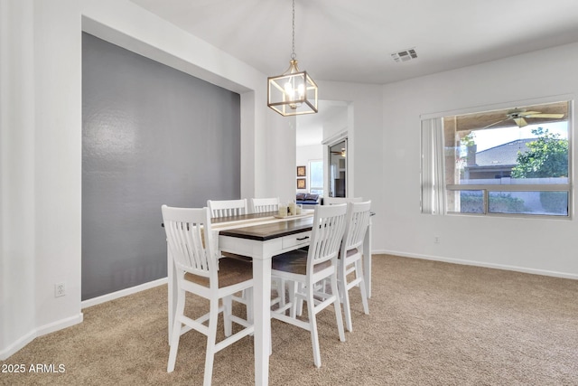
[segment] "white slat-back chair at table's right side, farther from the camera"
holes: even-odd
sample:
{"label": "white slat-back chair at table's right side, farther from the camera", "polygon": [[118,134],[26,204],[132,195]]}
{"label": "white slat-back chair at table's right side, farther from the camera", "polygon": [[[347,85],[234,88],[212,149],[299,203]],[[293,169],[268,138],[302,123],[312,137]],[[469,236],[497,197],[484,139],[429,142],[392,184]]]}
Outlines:
{"label": "white slat-back chair at table's right side, farther from the camera", "polygon": [[[343,301],[343,311],[345,313],[345,325],[348,331],[353,331],[349,295],[351,288],[359,287],[363,311],[369,314],[368,294],[365,287],[361,257],[364,253],[363,240],[368,231],[370,210],[370,201],[348,203],[347,227],[341,243],[337,275],[340,285],[340,297]],[[348,275],[352,273],[355,274],[355,278],[348,282]]]}

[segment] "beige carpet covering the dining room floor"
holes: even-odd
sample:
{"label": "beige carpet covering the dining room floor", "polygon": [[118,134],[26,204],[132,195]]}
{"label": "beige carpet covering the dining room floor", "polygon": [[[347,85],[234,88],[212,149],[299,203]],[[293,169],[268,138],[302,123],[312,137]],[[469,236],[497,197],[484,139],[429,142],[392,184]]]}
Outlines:
{"label": "beige carpet covering the dining room floor", "polygon": [[[351,297],[346,342],[332,307],[318,315],[321,368],[308,332],[272,322],[271,385],[578,384],[576,280],[374,255],[370,314],[357,288]],[[206,309],[187,304],[195,307]],[[194,331],[182,336],[175,371],[166,372],[166,286],[83,313],[82,324],[36,338],[0,362],[2,370],[26,369],[0,372],[0,384],[202,384],[205,337]],[[56,372],[29,372],[37,363]],[[254,384],[252,337],[217,353],[213,384]]]}

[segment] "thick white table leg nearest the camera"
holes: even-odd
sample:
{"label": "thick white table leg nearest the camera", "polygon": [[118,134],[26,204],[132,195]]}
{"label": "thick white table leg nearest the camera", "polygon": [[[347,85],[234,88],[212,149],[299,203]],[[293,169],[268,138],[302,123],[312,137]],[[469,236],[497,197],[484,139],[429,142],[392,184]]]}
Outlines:
{"label": "thick white table leg nearest the camera", "polygon": [[266,385],[271,341],[271,259],[253,259],[253,301],[255,384]]}

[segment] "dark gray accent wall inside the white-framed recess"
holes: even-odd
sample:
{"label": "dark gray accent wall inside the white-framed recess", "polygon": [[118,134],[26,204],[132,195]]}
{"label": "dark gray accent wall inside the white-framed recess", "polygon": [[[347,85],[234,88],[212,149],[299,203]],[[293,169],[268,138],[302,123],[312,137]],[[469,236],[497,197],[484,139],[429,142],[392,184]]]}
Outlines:
{"label": "dark gray accent wall inside the white-framed recess", "polygon": [[163,203],[239,195],[239,95],[83,33],[82,300],[166,277]]}

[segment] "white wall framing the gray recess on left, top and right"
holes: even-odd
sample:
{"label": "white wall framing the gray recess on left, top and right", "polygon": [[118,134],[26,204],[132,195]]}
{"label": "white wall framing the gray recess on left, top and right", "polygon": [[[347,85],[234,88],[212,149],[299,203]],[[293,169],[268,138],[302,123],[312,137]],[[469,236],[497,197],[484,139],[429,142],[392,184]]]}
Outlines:
{"label": "white wall framing the gray recess on left, top and right", "polygon": [[291,120],[266,108],[265,74],[131,2],[0,0],[0,14],[2,360],[82,320],[82,30],[241,94],[243,196],[294,195],[295,152]]}

